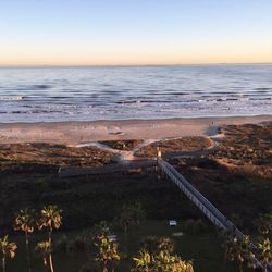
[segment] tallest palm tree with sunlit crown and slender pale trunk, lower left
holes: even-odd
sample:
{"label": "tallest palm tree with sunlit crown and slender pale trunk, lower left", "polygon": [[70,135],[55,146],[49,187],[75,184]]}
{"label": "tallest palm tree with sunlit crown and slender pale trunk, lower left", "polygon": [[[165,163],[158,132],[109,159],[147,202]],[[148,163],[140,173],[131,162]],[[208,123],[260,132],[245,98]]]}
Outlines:
{"label": "tallest palm tree with sunlit crown and slender pale trunk, lower left", "polygon": [[[60,210],[58,206],[49,205],[44,207],[40,213],[41,217],[38,221],[38,227],[39,230],[42,230],[44,227],[48,228],[48,243],[52,247],[52,232],[54,228],[58,230],[61,226],[62,210]],[[53,272],[52,248],[49,252],[49,264],[51,272]]]}

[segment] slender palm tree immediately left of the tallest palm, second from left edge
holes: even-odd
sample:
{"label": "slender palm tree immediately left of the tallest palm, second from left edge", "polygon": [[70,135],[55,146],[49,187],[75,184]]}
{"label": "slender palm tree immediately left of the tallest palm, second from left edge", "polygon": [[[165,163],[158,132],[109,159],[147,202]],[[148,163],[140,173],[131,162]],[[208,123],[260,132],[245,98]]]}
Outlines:
{"label": "slender palm tree immediately left of the tallest palm, second from left edge", "polygon": [[20,210],[15,218],[14,230],[22,231],[25,234],[25,246],[27,255],[28,271],[32,272],[32,257],[30,257],[30,245],[29,238],[30,233],[34,232],[35,219],[34,210],[23,209]]}

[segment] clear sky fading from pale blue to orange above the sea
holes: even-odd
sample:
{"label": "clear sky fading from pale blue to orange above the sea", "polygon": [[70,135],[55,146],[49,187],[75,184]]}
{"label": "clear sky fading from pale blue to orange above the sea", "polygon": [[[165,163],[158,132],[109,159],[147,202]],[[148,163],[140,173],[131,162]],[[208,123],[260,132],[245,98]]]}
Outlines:
{"label": "clear sky fading from pale blue to orange above the sea", "polygon": [[271,63],[271,0],[0,0],[0,65]]}

